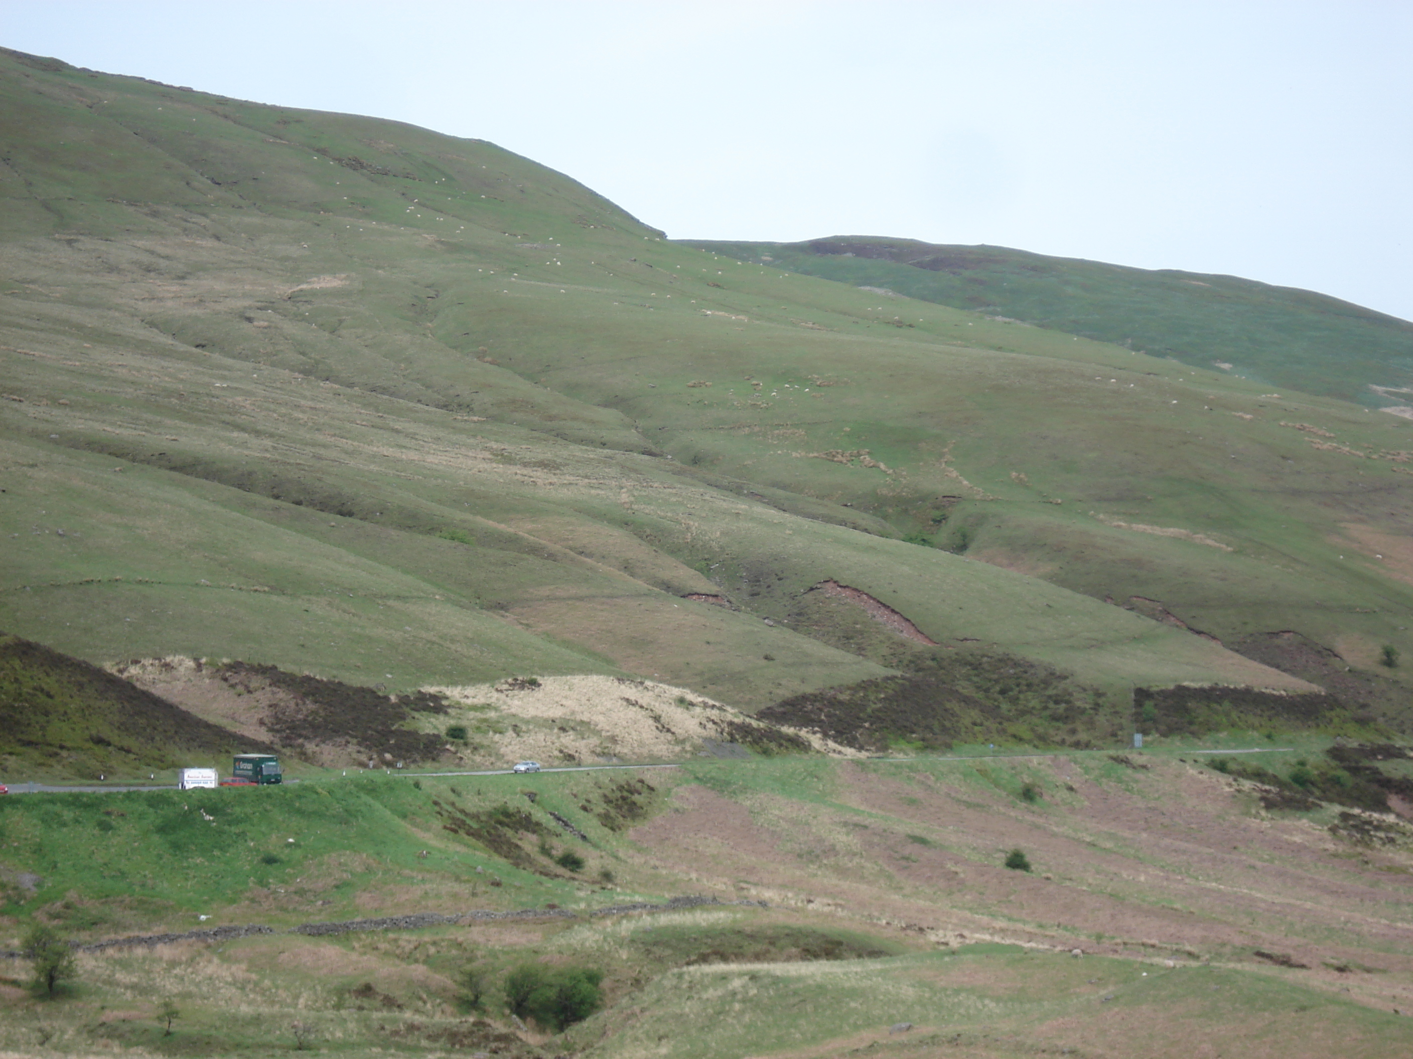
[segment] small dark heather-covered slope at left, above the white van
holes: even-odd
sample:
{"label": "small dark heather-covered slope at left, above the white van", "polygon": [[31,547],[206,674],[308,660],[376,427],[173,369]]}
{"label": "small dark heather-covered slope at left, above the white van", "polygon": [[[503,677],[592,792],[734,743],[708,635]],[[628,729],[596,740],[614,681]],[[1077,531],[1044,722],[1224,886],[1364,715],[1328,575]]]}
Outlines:
{"label": "small dark heather-covered slope at left, above the white van", "polygon": [[95,665],[0,634],[0,772],[97,778],[273,751]]}

